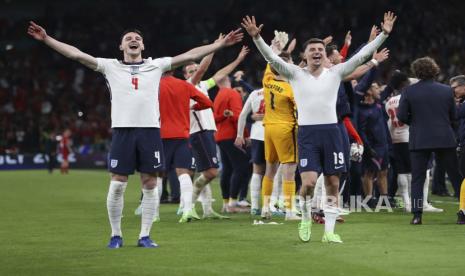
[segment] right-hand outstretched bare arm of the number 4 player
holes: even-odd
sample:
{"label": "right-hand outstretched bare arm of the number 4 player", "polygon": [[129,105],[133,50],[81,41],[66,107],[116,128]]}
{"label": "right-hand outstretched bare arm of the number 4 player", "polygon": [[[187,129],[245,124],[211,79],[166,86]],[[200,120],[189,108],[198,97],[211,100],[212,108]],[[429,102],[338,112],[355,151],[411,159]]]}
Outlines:
{"label": "right-hand outstretched bare arm of the number 4 player", "polygon": [[221,39],[217,39],[215,42],[196,47],[191,49],[183,54],[177,55],[173,57],[171,61],[171,68],[174,69],[176,67],[182,66],[189,62],[193,62],[199,60],[211,53],[214,53],[224,47],[232,46],[242,40],[243,34],[240,32],[241,29],[237,29],[235,31],[230,32],[226,36]]}

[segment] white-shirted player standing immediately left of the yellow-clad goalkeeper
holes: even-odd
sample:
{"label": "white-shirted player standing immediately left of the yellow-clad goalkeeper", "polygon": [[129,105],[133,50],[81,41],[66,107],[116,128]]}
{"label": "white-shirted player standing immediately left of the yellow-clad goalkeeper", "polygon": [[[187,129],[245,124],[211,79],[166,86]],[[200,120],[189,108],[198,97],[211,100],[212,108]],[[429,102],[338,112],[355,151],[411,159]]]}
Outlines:
{"label": "white-shirted player standing immediately left of the yellow-clad goalkeeper", "polygon": [[265,114],[265,102],[263,99],[263,89],[252,91],[247,101],[244,103],[239,121],[237,123],[237,137],[234,144],[242,148],[245,144],[244,129],[247,117],[252,113],[252,128],[250,130],[250,147],[252,152],[253,174],[250,179],[250,199],[252,206],[250,213],[252,215],[260,215],[259,201],[260,188],[262,184],[263,174],[265,173],[265,146],[263,116]]}

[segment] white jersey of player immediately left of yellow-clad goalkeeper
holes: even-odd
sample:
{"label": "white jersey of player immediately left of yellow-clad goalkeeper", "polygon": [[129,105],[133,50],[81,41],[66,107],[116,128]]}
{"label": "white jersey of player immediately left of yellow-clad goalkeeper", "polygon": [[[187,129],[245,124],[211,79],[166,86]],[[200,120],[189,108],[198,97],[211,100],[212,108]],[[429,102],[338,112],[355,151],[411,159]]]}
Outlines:
{"label": "white jersey of player immediately left of yellow-clad goalkeeper", "polygon": [[[239,122],[237,124],[237,136],[244,137],[244,128],[247,120],[247,116],[250,113],[261,113],[265,112],[265,100],[263,98],[263,88],[254,90],[250,93],[247,101],[242,107],[241,114],[239,115]],[[252,124],[250,130],[250,139],[254,140],[265,140],[265,128],[263,127],[263,121],[255,121]]]}

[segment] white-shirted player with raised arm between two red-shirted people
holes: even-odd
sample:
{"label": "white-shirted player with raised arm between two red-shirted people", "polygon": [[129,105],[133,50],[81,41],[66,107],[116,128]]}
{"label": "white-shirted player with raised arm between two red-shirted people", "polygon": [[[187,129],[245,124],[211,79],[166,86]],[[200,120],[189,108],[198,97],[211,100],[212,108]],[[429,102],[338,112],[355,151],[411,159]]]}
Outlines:
{"label": "white-shirted player with raised arm between two red-shirted people", "polygon": [[[222,38],[222,35],[220,35],[220,38]],[[200,81],[212,61],[213,54],[210,54],[204,57],[200,64],[191,63],[184,66],[184,78],[196,85],[197,89],[208,96],[208,90],[215,87],[219,80],[227,77],[234,71],[248,53],[249,49],[246,46],[242,47],[239,55],[233,62],[220,69],[211,78]],[[214,137],[216,125],[213,111],[212,109],[192,110],[190,117],[190,143],[195,158],[196,169],[200,172],[200,176],[194,181],[194,190],[192,193],[193,210],[195,211],[195,202],[200,197],[204,218],[228,218],[213,211],[212,191],[210,185],[208,185],[218,175],[219,167]]]}

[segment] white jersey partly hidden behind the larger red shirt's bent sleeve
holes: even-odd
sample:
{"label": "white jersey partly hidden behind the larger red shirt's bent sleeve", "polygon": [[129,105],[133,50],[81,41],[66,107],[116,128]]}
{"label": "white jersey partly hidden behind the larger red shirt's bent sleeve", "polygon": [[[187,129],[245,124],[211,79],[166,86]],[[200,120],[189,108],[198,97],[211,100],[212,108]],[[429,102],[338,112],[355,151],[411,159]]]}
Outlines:
{"label": "white jersey partly hidden behind the larger red shirt's bent sleeve", "polygon": [[[188,82],[191,80],[188,79]],[[208,84],[208,81],[201,81],[195,87],[200,90],[205,96],[208,97],[208,90],[212,88],[212,85]],[[196,102],[191,100],[191,106]],[[214,130],[216,131],[215,117],[213,116],[213,110],[211,108],[203,110],[191,110],[191,126],[190,134],[196,133],[202,130]]]}

